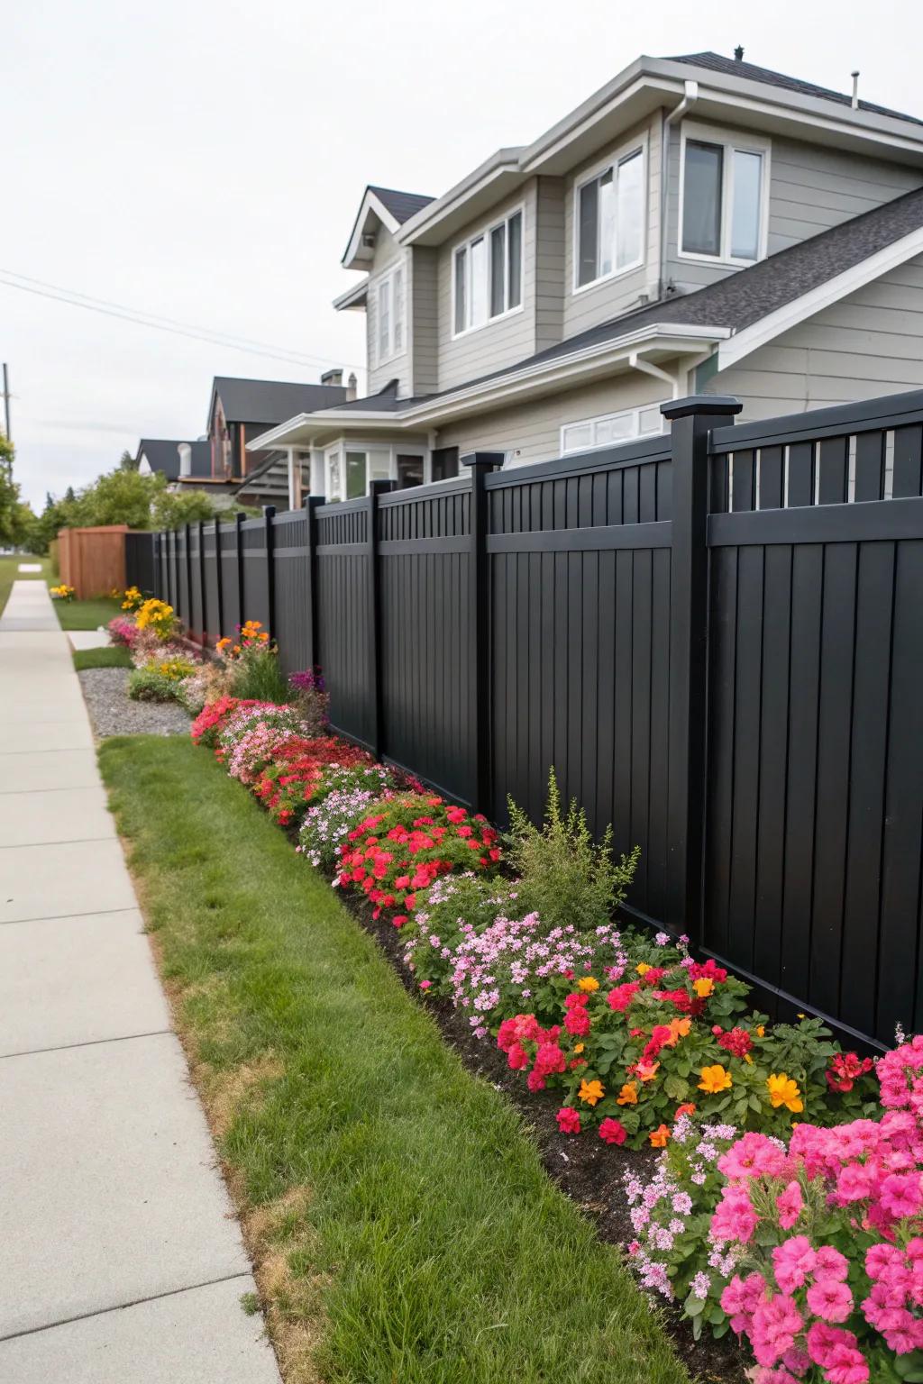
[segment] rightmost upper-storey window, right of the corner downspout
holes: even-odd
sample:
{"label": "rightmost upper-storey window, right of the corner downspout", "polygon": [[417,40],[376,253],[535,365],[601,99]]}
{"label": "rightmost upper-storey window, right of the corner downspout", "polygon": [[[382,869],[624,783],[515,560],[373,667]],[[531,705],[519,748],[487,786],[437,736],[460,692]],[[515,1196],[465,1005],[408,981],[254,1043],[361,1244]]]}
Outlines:
{"label": "rightmost upper-storey window, right of the corner downspout", "polygon": [[682,255],[751,264],[765,255],[767,141],[684,126]]}

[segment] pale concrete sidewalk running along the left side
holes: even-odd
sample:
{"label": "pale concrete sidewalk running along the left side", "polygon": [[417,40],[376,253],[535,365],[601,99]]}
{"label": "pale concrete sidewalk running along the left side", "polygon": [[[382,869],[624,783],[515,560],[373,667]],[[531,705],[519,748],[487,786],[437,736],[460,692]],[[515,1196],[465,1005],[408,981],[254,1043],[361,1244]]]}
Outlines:
{"label": "pale concrete sidewalk running along the left side", "polygon": [[0,727],[0,1380],[278,1384],[42,581]]}

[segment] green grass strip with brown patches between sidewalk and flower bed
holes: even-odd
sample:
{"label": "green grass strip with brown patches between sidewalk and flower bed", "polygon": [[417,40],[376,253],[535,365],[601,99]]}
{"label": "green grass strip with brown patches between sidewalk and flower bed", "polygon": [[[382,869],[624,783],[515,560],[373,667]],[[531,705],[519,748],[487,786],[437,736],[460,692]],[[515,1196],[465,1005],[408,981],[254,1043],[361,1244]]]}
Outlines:
{"label": "green grass strip with brown patches between sidewalk and flower bed", "polygon": [[617,1251],[213,757],[104,778],[286,1384],[681,1384]]}

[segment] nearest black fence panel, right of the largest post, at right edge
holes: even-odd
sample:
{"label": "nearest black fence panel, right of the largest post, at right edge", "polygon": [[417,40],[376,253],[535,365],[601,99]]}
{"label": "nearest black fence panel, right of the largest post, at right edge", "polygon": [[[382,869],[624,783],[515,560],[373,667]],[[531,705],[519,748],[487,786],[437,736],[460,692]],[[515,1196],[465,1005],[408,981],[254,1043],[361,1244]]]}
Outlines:
{"label": "nearest black fence panel, right of the largest post, at right edge", "polygon": [[887,1044],[923,1019],[920,429],[790,424],[714,435],[703,941],[775,1012]]}

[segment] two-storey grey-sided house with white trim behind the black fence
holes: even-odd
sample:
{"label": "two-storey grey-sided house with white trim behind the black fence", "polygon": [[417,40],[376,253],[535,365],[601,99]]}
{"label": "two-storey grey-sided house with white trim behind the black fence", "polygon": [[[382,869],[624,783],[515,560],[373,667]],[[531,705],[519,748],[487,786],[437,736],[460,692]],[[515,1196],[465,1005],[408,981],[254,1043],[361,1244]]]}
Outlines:
{"label": "two-storey grey-sided house with white trim behind the black fence", "polygon": [[753,419],[920,386],[923,120],[742,48],[641,57],[441,197],[367,187],[343,266],[367,397],[249,443],[331,498],[656,433],[693,392]]}

